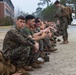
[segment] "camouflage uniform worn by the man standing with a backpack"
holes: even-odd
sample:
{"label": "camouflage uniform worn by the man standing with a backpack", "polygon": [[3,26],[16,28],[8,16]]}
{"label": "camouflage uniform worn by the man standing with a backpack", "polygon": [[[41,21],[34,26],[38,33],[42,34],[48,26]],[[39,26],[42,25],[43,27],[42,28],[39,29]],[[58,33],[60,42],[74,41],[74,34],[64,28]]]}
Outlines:
{"label": "camouflage uniform worn by the man standing with a backpack", "polygon": [[[62,5],[61,5],[62,6]],[[68,19],[66,16],[62,16],[63,11],[62,11],[62,7],[59,7],[57,9],[56,12],[56,17],[58,17],[60,19],[60,26],[59,26],[59,30],[61,31],[61,35],[63,37],[63,41],[67,41],[68,40],[68,32],[67,32],[67,28],[68,28]]]}

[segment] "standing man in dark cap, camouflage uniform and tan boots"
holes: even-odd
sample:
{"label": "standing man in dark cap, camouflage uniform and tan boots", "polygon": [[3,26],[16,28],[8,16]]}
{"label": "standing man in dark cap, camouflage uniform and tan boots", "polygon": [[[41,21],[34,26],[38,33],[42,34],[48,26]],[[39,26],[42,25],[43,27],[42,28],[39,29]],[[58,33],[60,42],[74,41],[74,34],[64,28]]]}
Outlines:
{"label": "standing man in dark cap, camouflage uniform and tan boots", "polygon": [[60,26],[59,26],[59,31],[60,31],[60,35],[62,36],[63,42],[61,44],[67,44],[69,43],[68,41],[68,18],[66,17],[66,15],[64,15],[64,11],[63,11],[63,7],[65,7],[64,5],[61,5],[59,1],[56,1],[54,3],[57,7],[57,12],[56,12],[56,17],[58,17],[60,19]]}

